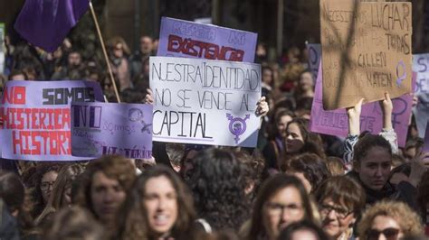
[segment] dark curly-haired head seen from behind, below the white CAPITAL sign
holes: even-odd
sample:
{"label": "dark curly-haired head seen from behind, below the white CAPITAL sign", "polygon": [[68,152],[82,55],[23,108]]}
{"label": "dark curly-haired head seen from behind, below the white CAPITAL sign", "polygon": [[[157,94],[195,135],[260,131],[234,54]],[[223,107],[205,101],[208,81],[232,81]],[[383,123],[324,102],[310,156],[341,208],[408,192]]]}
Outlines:
{"label": "dark curly-haired head seen from behind, below the white CAPITAL sign", "polygon": [[196,153],[187,169],[187,184],[193,193],[198,222],[205,231],[234,228],[249,217],[245,194],[246,167],[234,152],[215,148]]}

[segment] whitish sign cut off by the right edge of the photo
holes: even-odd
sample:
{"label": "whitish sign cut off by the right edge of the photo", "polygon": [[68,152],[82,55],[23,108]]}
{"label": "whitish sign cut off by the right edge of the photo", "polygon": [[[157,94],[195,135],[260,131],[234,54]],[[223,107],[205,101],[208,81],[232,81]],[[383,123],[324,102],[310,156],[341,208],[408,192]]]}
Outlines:
{"label": "whitish sign cut off by the right edge of the photo", "polygon": [[419,137],[424,137],[429,121],[429,53],[413,55],[413,71],[417,74],[415,96],[418,104],[413,108]]}

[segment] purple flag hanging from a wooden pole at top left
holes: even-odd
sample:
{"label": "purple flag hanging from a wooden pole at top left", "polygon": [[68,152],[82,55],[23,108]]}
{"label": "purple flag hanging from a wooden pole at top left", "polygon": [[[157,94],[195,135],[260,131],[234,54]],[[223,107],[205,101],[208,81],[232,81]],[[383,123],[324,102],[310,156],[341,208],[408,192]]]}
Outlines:
{"label": "purple flag hanging from a wooden pole at top left", "polygon": [[55,51],[88,9],[89,0],[26,0],[14,28],[27,42]]}

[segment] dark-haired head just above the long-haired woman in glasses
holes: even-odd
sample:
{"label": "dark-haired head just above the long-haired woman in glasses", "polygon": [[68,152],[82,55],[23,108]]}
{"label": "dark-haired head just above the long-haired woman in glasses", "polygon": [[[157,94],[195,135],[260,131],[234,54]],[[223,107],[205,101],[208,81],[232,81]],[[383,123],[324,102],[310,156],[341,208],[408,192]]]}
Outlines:
{"label": "dark-haired head just above the long-haired woman in glasses", "polygon": [[319,184],[330,176],[325,161],[314,153],[296,155],[290,160],[285,170],[299,178],[309,194],[318,189]]}

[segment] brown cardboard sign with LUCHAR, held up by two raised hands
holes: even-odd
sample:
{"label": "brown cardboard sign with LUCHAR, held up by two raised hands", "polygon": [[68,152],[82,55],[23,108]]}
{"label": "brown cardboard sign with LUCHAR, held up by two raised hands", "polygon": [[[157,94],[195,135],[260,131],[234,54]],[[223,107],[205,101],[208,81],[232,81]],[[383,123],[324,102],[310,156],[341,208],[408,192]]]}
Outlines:
{"label": "brown cardboard sign with LUCHAR, held up by two raised hands", "polygon": [[411,92],[411,3],[320,0],[323,106]]}

